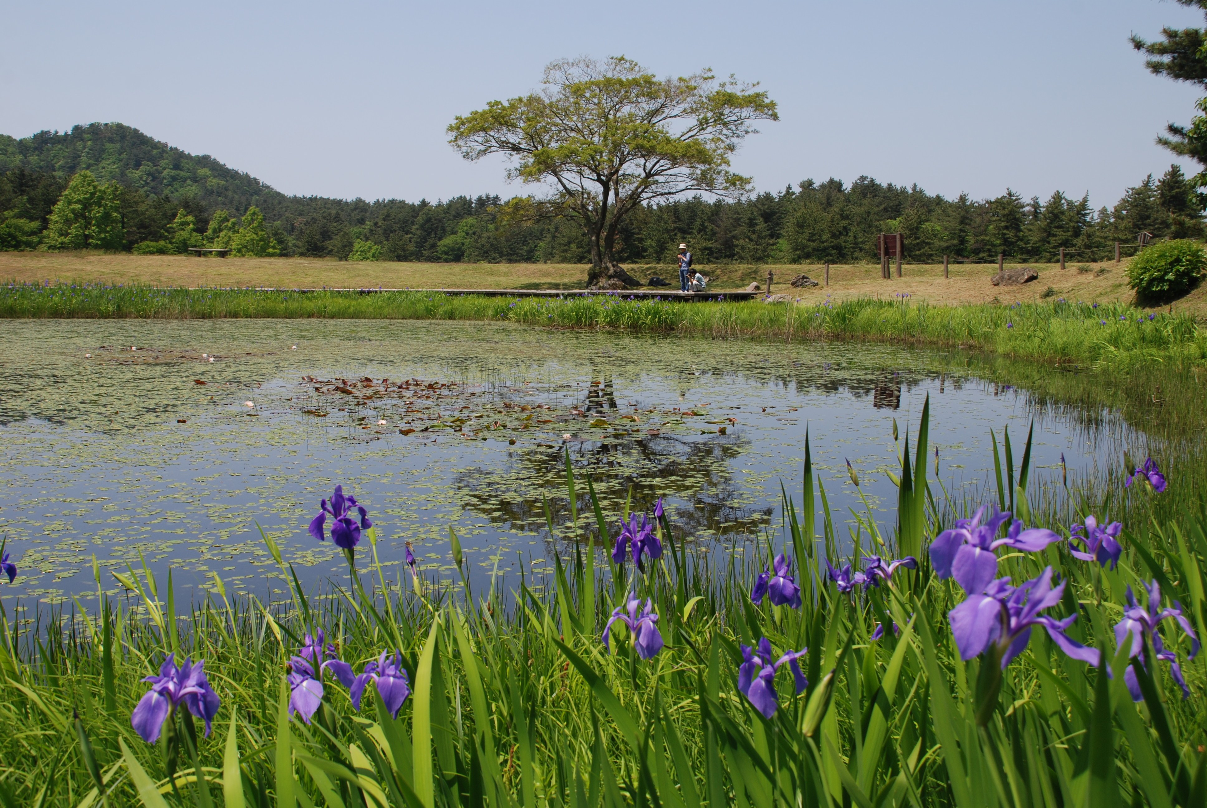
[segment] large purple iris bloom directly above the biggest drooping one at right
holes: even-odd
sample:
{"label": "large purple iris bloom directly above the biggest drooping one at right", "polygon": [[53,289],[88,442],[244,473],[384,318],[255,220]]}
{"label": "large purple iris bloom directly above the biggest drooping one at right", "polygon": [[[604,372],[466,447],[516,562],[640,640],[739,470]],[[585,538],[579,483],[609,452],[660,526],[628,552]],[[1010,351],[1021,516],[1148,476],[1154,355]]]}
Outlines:
{"label": "large purple iris bloom directly above the biggest drooping one at right", "polygon": [[1033,553],[1054,541],[1060,541],[1046,528],[1022,529],[1022,522],[1014,521],[1005,539],[995,539],[998,529],[1010,518],[1009,511],[997,511],[989,522],[981,524],[985,515],[982,505],[973,518],[956,519],[956,527],[944,530],[931,542],[931,563],[940,579],[955,577],[956,583],[968,594],[980,594],[997,575],[998,547],[1011,547]]}

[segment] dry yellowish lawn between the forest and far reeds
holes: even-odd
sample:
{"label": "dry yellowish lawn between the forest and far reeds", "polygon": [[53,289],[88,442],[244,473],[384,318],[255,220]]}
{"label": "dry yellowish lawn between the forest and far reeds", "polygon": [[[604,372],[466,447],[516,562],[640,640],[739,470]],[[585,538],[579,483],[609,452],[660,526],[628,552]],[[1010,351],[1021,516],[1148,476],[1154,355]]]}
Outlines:
{"label": "dry yellowish lawn between the forest and far reeds", "polygon": [[[1020,265],[1007,265],[1020,266]],[[1127,262],[1032,263],[1039,279],[1024,286],[993,286],[996,265],[905,265],[903,278],[880,278],[879,265],[830,267],[829,286],[793,289],[793,277],[807,274],[822,283],[817,265],[718,265],[699,269],[711,279],[710,289],[744,289],[752,280],[772,292],[788,292],[805,303],[852,297],[894,297],[935,304],[1028,302],[1044,297],[1068,301],[1133,302],[1127,287]],[[667,266],[629,266],[641,280],[660,275],[677,287],[678,274]],[[330,258],[214,258],[193,256],[140,256],[101,252],[0,252],[0,280],[25,283],[150,284],[156,286],[255,286],[276,289],[582,289],[587,267],[560,263],[402,263],[348,262]],[[1164,307],[1162,307],[1164,308]],[[1174,303],[1176,310],[1207,316],[1207,289],[1200,287]]]}

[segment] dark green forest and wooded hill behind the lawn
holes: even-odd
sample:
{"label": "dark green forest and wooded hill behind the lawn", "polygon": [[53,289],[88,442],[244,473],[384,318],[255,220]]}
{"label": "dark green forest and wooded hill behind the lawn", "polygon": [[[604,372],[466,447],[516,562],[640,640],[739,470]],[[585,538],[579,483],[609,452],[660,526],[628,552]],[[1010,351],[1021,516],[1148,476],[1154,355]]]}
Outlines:
{"label": "dark green forest and wooded hill behind the lawn", "polygon": [[[517,215],[497,196],[442,202],[290,197],[208,156],[194,157],[122,124],[0,138],[0,249],[181,252],[441,262],[588,261],[568,220]],[[1011,190],[947,199],[917,185],[861,176],[805,180],[740,200],[693,197],[647,205],[623,223],[618,256],[669,263],[690,245],[699,263],[853,263],[876,260],[876,236],[902,233],[908,261],[1050,261],[1113,256],[1141,232],[1202,238],[1193,182],[1177,165],[1149,175],[1113,207]],[[1130,255],[1130,251],[1126,252]]]}

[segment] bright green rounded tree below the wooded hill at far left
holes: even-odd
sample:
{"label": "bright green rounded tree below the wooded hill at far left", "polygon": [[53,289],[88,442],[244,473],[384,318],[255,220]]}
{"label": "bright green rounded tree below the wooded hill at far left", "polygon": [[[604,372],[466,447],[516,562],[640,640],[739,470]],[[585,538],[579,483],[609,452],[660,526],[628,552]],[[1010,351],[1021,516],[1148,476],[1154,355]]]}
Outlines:
{"label": "bright green rounded tree below the wooded hill at far left", "polygon": [[121,186],[100,185],[91,172],[80,172],[51,211],[42,244],[51,250],[121,250]]}

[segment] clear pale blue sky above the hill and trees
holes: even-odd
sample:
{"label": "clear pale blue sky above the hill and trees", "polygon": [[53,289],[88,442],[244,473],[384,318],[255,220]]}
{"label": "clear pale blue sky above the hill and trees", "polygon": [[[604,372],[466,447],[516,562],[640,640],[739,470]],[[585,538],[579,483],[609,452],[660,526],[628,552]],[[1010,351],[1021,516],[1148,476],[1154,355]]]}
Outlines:
{"label": "clear pale blue sky above the hill and trees", "polygon": [[[1113,204],[1168,168],[1194,87],[1131,33],[1202,25],[1158,0],[8,4],[0,132],[121,121],[286,193],[521,193],[445,143],[457,114],[559,57],[702,66],[780,104],[735,158],[759,190],[861,174],[954,197],[1055,190]],[[1196,170],[1186,165],[1188,173]]]}

